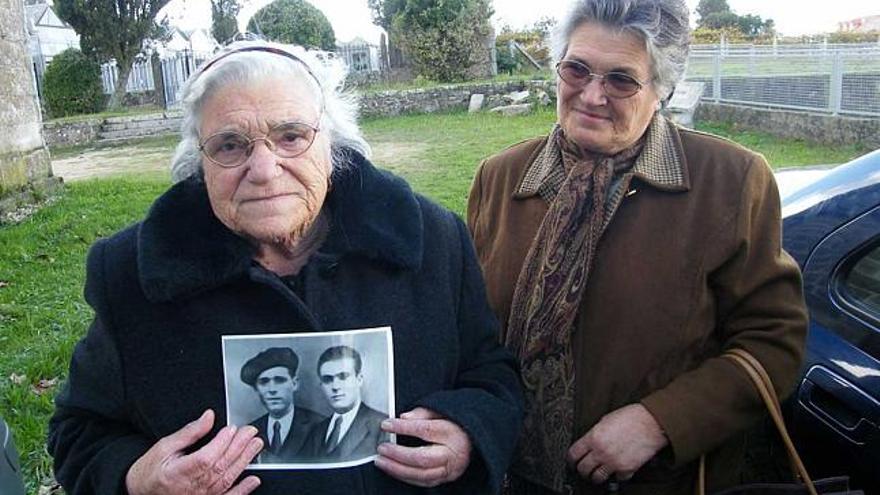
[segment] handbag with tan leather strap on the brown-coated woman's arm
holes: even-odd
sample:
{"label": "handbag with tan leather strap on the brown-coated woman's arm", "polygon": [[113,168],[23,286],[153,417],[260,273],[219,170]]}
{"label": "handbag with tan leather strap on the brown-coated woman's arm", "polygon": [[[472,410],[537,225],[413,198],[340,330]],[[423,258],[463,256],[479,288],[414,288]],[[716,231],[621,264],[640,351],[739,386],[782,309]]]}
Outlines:
{"label": "handbag with tan leather strap on the brown-coated woman's arm", "polygon": [[[795,482],[792,483],[752,483],[747,485],[735,486],[726,490],[715,492],[713,495],[863,495],[861,490],[851,490],[849,488],[849,477],[838,476],[834,478],[825,478],[813,481],[807,474],[803,461],[791,441],[788,429],[785,427],[785,421],[782,419],[782,408],[779,406],[779,398],[770,381],[770,376],[764,370],[761,363],[755,359],[750,353],[743,349],[731,349],[722,354],[738,364],[745,370],[746,374],[752,380],[770,418],[779,435],[782,437],[782,443],[788,453],[788,460],[791,464],[792,472],[795,475]],[[697,495],[706,494],[706,456],[700,458],[700,470],[697,477]]]}

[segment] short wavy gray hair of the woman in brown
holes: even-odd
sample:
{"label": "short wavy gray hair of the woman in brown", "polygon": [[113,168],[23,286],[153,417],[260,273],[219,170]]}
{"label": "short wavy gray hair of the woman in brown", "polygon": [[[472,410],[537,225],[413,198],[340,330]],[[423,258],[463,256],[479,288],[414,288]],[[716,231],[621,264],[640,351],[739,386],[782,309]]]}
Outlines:
{"label": "short wavy gray hair of the woman in brown", "polygon": [[645,41],[652,82],[657,95],[665,100],[687,67],[688,18],[684,0],[576,0],[553,31],[553,58],[562,60],[572,33],[585,22],[632,33]]}

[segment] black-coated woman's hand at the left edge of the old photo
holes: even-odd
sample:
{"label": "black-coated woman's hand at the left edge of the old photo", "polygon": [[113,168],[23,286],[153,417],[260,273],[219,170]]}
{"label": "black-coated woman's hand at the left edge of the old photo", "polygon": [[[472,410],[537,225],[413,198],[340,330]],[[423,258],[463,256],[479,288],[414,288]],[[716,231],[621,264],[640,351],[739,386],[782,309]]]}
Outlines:
{"label": "black-coated woman's hand at the left edge of the old photo", "polygon": [[248,476],[233,486],[251,459],[263,448],[255,438],[256,428],[224,427],[207,445],[184,454],[184,449],[211,431],[214,412],[202,416],[162,438],[141,456],[125,476],[131,495],[228,494],[246,495],[260,486],[260,479]]}

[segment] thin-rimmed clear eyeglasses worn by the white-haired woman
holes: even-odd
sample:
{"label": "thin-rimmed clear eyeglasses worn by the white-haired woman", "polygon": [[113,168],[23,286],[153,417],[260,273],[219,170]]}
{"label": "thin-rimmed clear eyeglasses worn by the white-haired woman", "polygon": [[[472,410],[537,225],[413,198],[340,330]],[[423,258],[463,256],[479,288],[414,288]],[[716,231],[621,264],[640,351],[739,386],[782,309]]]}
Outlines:
{"label": "thin-rimmed clear eyeglasses worn by the white-haired woman", "polygon": [[200,141],[199,151],[212,163],[233,168],[247,161],[257,141],[265,142],[278,157],[294,158],[309,150],[317,133],[318,127],[302,122],[282,122],[263,137],[252,138],[235,131],[222,131]]}

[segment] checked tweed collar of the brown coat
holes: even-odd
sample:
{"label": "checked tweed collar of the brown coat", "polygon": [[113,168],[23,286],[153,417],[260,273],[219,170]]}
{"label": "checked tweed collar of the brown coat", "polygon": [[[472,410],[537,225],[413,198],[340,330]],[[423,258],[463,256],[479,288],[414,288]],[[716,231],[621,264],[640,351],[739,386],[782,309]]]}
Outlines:
{"label": "checked tweed collar of the brown coat", "polygon": [[[544,147],[529,164],[514,194],[516,198],[527,198],[535,195],[545,197],[545,190],[558,189],[565,180],[562,168],[562,157],[557,149],[550,144],[556,138],[558,124],[547,139]],[[666,191],[687,191],[690,189],[681,140],[675,124],[660,113],[654,114],[651,124],[645,131],[645,145],[636,158],[631,172],[642,182]],[[555,183],[555,186],[554,186]],[[555,192],[550,195],[555,196]]]}

